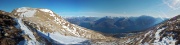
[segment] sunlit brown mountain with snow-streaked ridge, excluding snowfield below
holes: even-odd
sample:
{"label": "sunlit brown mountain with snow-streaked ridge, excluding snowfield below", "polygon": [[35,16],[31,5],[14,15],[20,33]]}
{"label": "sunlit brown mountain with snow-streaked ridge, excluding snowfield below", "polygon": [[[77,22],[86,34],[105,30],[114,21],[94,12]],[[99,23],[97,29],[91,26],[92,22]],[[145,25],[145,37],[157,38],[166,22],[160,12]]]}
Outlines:
{"label": "sunlit brown mountain with snow-streaked ridge, excluding snowfield below", "polygon": [[58,32],[62,35],[88,39],[105,38],[100,33],[69,23],[49,9],[22,7],[14,10],[12,14],[17,15],[16,17],[18,18],[22,18],[23,21],[27,22],[26,25],[37,25],[34,28],[42,32]]}

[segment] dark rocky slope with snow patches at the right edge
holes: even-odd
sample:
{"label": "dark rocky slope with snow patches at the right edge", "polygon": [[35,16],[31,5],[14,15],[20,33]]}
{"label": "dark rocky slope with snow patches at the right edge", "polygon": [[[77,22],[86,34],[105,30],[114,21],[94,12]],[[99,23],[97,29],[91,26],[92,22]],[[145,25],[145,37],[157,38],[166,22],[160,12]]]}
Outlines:
{"label": "dark rocky slope with snow patches at the right edge", "polygon": [[180,15],[138,35],[127,37],[124,43],[133,45],[179,45]]}

